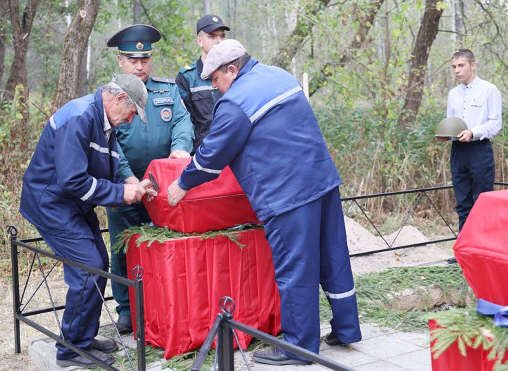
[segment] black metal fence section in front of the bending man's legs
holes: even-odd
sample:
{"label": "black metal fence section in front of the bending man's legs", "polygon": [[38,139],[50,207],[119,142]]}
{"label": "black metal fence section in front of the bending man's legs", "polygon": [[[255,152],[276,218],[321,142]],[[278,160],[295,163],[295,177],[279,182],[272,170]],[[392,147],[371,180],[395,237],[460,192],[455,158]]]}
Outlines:
{"label": "black metal fence section in front of the bending man's legs", "polygon": [[[101,230],[101,232],[106,232],[107,230]],[[100,367],[104,368],[105,370],[118,370],[118,368],[114,368],[112,365],[103,363],[100,361],[99,358],[93,356],[92,354],[89,354],[87,352],[84,352],[83,349],[78,348],[74,346],[72,343],[65,340],[65,336],[62,333],[61,328],[61,322],[58,318],[57,310],[62,310],[65,308],[65,306],[55,306],[53,295],[51,294],[51,290],[49,288],[49,285],[47,283],[47,278],[50,276],[51,272],[53,271],[54,267],[58,264],[58,262],[63,262],[65,265],[71,265],[72,267],[77,267],[79,269],[83,269],[84,271],[88,272],[88,278],[94,280],[95,283],[95,289],[97,292],[99,292],[100,297],[102,299],[102,303],[104,307],[106,308],[109,318],[111,319],[111,323],[113,324],[113,327],[116,331],[116,334],[118,338],[120,339],[120,342],[122,343],[122,347],[124,349],[125,354],[127,355],[127,359],[129,361],[130,368],[132,370],[136,370],[134,367],[134,363],[132,362],[132,359],[129,355],[129,352],[127,352],[127,347],[125,347],[125,344],[122,340],[122,337],[120,336],[120,333],[118,333],[118,329],[116,328],[116,324],[113,320],[113,315],[111,315],[111,311],[106,306],[106,301],[113,299],[112,297],[104,298],[102,294],[100,293],[99,286],[97,285],[97,282],[95,282],[94,275],[102,276],[104,278],[108,278],[111,281],[116,281],[119,283],[123,283],[124,285],[127,285],[129,287],[134,287],[134,300],[136,302],[136,338],[137,338],[137,367],[139,371],[144,371],[146,369],[146,363],[145,363],[145,319],[143,314],[143,270],[141,267],[136,267],[134,269],[134,280],[128,280],[127,278],[123,278],[121,276],[117,276],[116,274],[111,274],[107,271],[102,271],[100,269],[90,268],[86,267],[86,265],[81,265],[78,262],[73,262],[72,260],[68,260],[65,258],[58,257],[54,255],[53,253],[49,253],[48,251],[44,251],[40,248],[37,248],[33,245],[31,245],[32,242],[41,242],[43,241],[42,238],[31,238],[31,239],[17,239],[17,229],[14,226],[10,226],[8,228],[8,234],[10,236],[10,258],[11,258],[11,267],[12,267],[12,274],[13,274],[13,313],[14,313],[14,338],[15,338],[15,352],[20,353],[21,352],[21,339],[20,339],[20,332],[19,332],[19,323],[24,322],[25,324],[28,324],[29,326],[33,327],[34,329],[44,333],[46,336],[49,336],[49,338],[52,338],[56,342],[59,342],[60,344],[64,345],[65,347],[68,347],[72,349],[74,352],[77,352],[81,356],[86,357],[88,360],[95,362]],[[29,273],[26,277],[26,281],[24,284],[24,289],[22,294],[19,294],[19,267],[18,267],[18,255],[19,255],[19,248],[26,248],[29,251],[33,252],[33,259],[31,261],[31,265],[29,268]],[[54,265],[49,269],[49,271],[46,273],[44,271],[44,267],[42,266],[42,262],[40,260],[40,256],[45,256],[47,258],[51,258],[55,260],[56,262]],[[32,275],[33,267],[37,266],[40,270],[40,274],[42,276],[42,281],[39,283],[39,285],[35,288],[35,291],[29,297],[29,299],[26,300],[26,303],[24,302],[24,297],[26,294],[26,287],[28,287],[29,280]],[[35,296],[35,294],[38,292],[40,287],[42,285],[45,285],[45,288],[47,290],[47,294],[49,297],[49,301],[51,302],[51,307],[49,308],[43,308],[38,310],[32,310],[27,312],[26,306],[30,303],[31,299]],[[83,290],[81,290],[81,294],[79,295],[78,301],[81,301],[83,294]],[[41,313],[54,313],[56,323],[58,324],[59,333],[54,333],[49,331],[49,329],[46,329],[44,326],[40,326],[40,324],[34,322],[33,320],[29,319],[28,317],[32,315],[38,315]],[[72,319],[70,321],[72,323]]]}

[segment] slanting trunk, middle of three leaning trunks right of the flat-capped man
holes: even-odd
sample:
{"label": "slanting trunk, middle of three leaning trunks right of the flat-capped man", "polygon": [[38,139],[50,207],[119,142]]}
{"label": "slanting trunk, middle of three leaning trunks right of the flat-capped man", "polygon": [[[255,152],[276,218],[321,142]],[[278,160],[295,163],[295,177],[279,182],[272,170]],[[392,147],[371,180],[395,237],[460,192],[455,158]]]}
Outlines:
{"label": "slanting trunk, middle of three leaning trunks right of the flat-capped man", "polygon": [[[356,31],[353,40],[347,48],[348,51],[360,49],[360,47],[362,47],[362,45],[365,43],[365,39],[367,39],[367,33],[369,33],[369,30],[374,23],[374,18],[376,17],[376,14],[382,3],[383,0],[372,0],[367,8],[367,12],[360,13],[360,15],[357,16],[359,24],[358,30]],[[312,96],[312,94],[316,93],[319,88],[324,86],[326,79],[331,76],[336,65],[344,67],[344,65],[351,59],[351,57],[351,52],[348,52],[342,55],[338,63],[325,63],[319,74],[317,74],[317,76],[309,82],[309,96]]]}

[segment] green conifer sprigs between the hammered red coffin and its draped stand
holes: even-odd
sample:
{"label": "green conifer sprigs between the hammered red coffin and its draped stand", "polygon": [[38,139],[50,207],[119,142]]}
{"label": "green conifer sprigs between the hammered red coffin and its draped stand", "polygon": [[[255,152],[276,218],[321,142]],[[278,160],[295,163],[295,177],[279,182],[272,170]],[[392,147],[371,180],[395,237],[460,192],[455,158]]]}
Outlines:
{"label": "green conifer sprigs between the hammered red coffin and its draped stand", "polygon": [[[253,230],[263,228],[262,224],[244,224],[242,226],[238,226],[229,229],[223,230],[210,230],[208,232],[198,234],[198,233],[182,233],[177,232],[175,230],[170,230],[168,227],[159,228],[155,226],[149,226],[148,224],[143,224],[141,226],[134,226],[120,232],[117,236],[118,242],[111,246],[112,253],[118,253],[118,251],[123,251],[127,253],[127,248],[129,248],[129,242],[135,235],[139,235],[138,239],[136,239],[136,246],[141,246],[143,242],[148,242],[147,246],[150,247],[154,242],[164,243],[169,241],[170,239],[180,239],[184,237],[200,237],[200,239],[214,239],[217,236],[223,236],[230,239],[232,242],[237,244],[239,248],[244,248],[245,246],[239,242],[239,233],[243,230]],[[125,244],[124,244],[125,242]]]}

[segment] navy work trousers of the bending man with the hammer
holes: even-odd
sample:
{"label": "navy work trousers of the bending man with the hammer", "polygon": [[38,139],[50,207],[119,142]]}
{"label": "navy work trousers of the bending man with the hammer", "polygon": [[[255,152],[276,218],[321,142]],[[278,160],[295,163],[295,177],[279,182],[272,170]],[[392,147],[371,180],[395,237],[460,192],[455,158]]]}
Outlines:
{"label": "navy work trousers of the bending man with the hammer", "polygon": [[[54,231],[37,229],[56,255],[74,262],[80,262],[87,267],[108,270],[108,252],[98,224],[90,226],[94,239],[58,237]],[[65,339],[79,348],[88,347],[93,338],[97,336],[102,310],[100,295],[102,294],[102,297],[104,297],[104,288],[106,287],[106,278],[94,274],[90,275],[87,280],[87,276],[88,272],[82,269],[63,265],[63,278],[65,283],[69,285],[69,289],[61,319],[62,333],[64,336],[67,333]],[[97,292],[94,279],[100,288],[100,293]],[[79,300],[81,289],[84,286],[83,295]],[[76,314],[72,319],[74,310],[76,310]],[[69,359],[79,355],[58,342],[56,348],[57,359]]]}

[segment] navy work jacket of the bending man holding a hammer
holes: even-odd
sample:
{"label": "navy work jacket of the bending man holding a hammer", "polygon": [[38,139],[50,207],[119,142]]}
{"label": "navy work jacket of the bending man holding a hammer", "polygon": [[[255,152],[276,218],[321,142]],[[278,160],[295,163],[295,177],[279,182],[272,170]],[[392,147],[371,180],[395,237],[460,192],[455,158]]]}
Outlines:
{"label": "navy work jacket of the bending man holding a hammer", "polygon": [[112,132],[106,141],[102,93],[97,90],[49,118],[23,177],[19,212],[38,228],[93,238],[88,226],[97,221],[93,207],[123,203],[117,169],[116,137]]}

